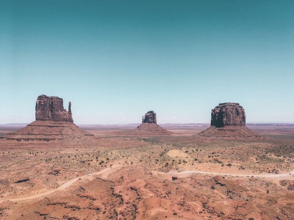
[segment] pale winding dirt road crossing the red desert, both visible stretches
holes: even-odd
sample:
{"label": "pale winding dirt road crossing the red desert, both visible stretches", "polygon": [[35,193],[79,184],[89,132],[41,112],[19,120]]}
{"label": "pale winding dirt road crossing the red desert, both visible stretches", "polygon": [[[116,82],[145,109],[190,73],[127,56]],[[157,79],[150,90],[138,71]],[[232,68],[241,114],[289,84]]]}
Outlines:
{"label": "pale winding dirt road crossing the red desert, both visible stretches", "polygon": [[[46,196],[46,195],[49,195],[57,190],[64,190],[66,189],[67,187],[71,186],[74,182],[76,182],[79,178],[87,178],[89,180],[93,180],[95,177],[93,177],[93,175],[99,175],[99,174],[102,174],[102,178],[107,178],[108,177],[108,174],[111,173],[111,172],[115,172],[117,171],[120,167],[123,167],[123,166],[118,166],[118,165],[113,165],[113,168],[105,168],[101,171],[98,171],[98,172],[93,172],[91,173],[90,176],[88,175],[83,175],[83,176],[79,176],[79,177],[75,177],[69,181],[66,181],[64,182],[61,186],[59,186],[58,188],[56,189],[53,189],[53,190],[50,190],[50,191],[47,191],[47,192],[43,192],[43,193],[40,193],[40,194],[36,194],[36,195],[31,195],[31,196],[27,196],[27,197],[20,197],[20,198],[14,198],[14,199],[4,199],[4,200],[0,200],[0,203],[3,202],[3,201],[6,201],[6,200],[10,200],[10,201],[21,201],[21,200],[26,200],[26,199],[35,199],[35,198],[38,198],[38,197],[43,197],[43,196]],[[164,173],[164,172],[157,172],[157,171],[152,171],[153,173],[161,173],[161,174],[168,174],[168,173]],[[212,175],[221,175],[221,176],[240,176],[240,177],[246,177],[246,176],[253,176],[253,177],[273,177],[273,178],[280,178],[280,179],[288,179],[288,180],[294,180],[294,170],[291,172],[293,173],[292,175],[289,175],[289,173],[286,173],[286,174],[262,174],[262,175],[240,175],[240,174],[227,174],[227,173],[214,173],[214,172],[203,172],[203,171],[193,171],[193,170],[190,170],[190,171],[182,171],[182,172],[175,172],[175,173],[169,173],[169,174],[175,174],[175,175],[181,175],[181,174],[192,174],[192,173],[203,173],[203,174],[212,174]],[[281,177],[286,177],[286,178],[281,178]]]}

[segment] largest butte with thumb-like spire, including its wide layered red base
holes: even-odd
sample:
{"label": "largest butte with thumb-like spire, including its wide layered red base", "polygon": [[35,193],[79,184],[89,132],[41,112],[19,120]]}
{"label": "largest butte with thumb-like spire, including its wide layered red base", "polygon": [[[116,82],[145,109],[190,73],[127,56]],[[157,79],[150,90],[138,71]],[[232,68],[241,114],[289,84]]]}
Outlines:
{"label": "largest butte with thumb-like spire, including its wide layered red base", "polygon": [[[2,140],[1,140],[2,139]],[[62,147],[81,143],[95,143],[93,134],[74,124],[71,113],[63,107],[63,99],[40,95],[36,101],[36,121],[0,139],[2,147]]]}

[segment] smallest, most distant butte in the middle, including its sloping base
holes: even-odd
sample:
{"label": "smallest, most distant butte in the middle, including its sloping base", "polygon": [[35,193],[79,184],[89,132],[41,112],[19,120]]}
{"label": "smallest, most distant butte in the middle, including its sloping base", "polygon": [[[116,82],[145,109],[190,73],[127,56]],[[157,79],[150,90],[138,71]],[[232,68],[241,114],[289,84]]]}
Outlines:
{"label": "smallest, most distant butte in the middle, including its sloping base", "polygon": [[136,133],[148,135],[171,135],[172,132],[167,131],[157,124],[156,113],[148,111],[145,117],[142,117],[142,124],[135,129]]}

